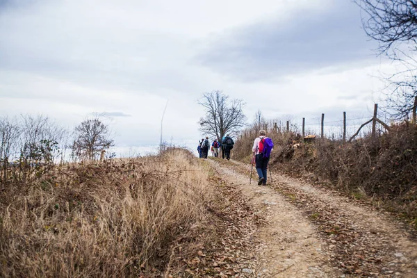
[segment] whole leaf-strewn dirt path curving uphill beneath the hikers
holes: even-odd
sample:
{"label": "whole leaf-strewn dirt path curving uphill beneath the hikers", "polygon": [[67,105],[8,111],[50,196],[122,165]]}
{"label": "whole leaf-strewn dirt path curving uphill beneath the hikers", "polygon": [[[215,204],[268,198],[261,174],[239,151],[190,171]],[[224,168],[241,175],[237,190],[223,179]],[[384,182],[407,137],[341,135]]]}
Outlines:
{"label": "whole leaf-strewn dirt path curving uphill beneath the hikers", "polygon": [[416,240],[383,213],[275,172],[250,186],[250,165],[211,163],[265,212],[258,277],[417,277]]}

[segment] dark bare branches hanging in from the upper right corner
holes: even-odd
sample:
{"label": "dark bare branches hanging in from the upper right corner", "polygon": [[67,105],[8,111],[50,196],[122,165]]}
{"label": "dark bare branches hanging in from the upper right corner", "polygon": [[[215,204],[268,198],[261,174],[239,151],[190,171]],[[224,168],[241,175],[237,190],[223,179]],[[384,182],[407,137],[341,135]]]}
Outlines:
{"label": "dark bare branches hanging in from the upper right corner", "polygon": [[362,23],[366,34],[379,42],[379,54],[402,62],[402,70],[385,76],[386,100],[392,116],[409,115],[417,97],[417,1],[354,0],[365,12]]}

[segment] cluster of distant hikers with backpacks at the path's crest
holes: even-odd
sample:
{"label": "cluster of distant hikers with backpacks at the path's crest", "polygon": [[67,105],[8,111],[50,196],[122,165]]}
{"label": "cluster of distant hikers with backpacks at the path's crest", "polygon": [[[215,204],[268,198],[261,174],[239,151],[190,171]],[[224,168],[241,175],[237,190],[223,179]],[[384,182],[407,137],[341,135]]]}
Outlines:
{"label": "cluster of distant hikers with backpacks at the path's crest", "polygon": [[209,142],[208,136],[206,138],[202,138],[201,141],[198,142],[197,151],[199,153],[200,158],[207,158],[208,156],[208,149],[211,149],[211,155],[214,157],[218,157],[220,149],[222,150],[222,158],[226,158],[230,160],[230,151],[233,149],[234,140],[231,138],[230,134],[223,136],[222,140],[218,140],[215,138],[213,142]]}

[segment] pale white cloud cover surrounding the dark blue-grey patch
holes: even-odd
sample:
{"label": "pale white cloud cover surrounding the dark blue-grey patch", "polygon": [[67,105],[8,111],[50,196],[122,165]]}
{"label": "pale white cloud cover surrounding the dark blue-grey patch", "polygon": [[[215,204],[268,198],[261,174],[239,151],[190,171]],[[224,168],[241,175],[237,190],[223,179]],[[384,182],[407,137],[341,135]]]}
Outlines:
{"label": "pale white cloud cover surrounding the dark blue-grey patch", "polygon": [[[117,145],[125,149],[158,144],[167,100],[164,139],[195,149],[202,92],[224,90],[243,99],[252,119],[257,109],[268,117],[334,106],[366,109],[378,87],[369,76],[380,67],[377,60],[366,67],[336,63],[327,72],[309,67],[254,81],[244,74],[236,78],[221,63],[206,67],[196,59],[213,38],[236,38],[247,26],[271,19],[280,28],[296,25],[300,10],[325,15],[336,0],[9,2],[14,4],[0,11],[0,113],[42,113],[70,128],[93,112],[130,115],[112,124]],[[261,43],[251,45],[256,50]],[[226,58],[243,73],[257,70]]]}

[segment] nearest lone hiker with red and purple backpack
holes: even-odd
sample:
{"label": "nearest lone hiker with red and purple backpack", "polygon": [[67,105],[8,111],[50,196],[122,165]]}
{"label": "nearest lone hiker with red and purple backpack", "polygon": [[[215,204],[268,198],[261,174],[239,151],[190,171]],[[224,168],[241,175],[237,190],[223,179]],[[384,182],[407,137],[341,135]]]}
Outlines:
{"label": "nearest lone hiker with red and purple backpack", "polygon": [[256,172],[258,172],[259,181],[258,185],[266,185],[266,168],[268,167],[268,162],[270,154],[274,147],[274,143],[271,138],[265,136],[265,131],[259,131],[259,137],[254,141],[254,147],[252,147],[252,152],[255,157]]}

